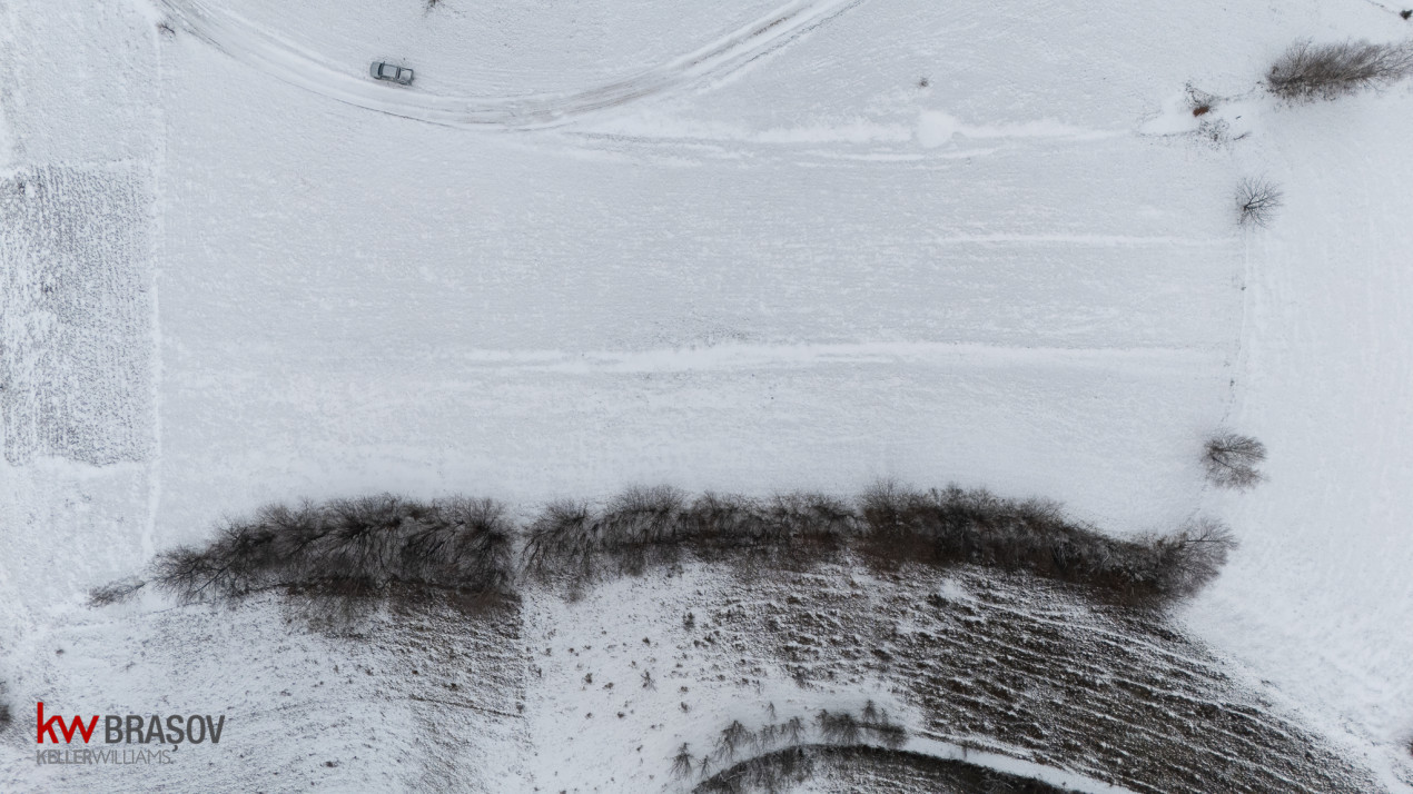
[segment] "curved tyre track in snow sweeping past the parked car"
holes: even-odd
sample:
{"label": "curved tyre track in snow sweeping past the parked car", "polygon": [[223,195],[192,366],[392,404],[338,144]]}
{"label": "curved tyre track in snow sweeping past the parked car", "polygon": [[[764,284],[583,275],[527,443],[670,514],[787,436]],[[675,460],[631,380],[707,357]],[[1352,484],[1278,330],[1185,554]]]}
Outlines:
{"label": "curved tyre track in snow sweeping past the parked car", "polygon": [[324,61],[202,0],[160,0],[182,28],[236,61],[291,85],[369,110],[451,127],[536,130],[723,78],[862,0],[794,0],[680,58],[601,86],[526,96],[438,96],[394,88]]}

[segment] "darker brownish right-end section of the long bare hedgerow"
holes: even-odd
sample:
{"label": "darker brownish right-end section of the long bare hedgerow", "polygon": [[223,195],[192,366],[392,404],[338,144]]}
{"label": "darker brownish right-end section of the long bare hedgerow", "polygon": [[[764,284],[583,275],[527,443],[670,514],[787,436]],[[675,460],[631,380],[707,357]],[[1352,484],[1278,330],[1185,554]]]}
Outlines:
{"label": "darker brownish right-end section of the long bare hedgerow", "polygon": [[1070,521],[1051,502],[955,486],[917,492],[882,485],[861,506],[869,528],[863,548],[873,557],[1026,569],[1137,600],[1191,595],[1235,545],[1214,521],[1169,535],[1115,538]]}

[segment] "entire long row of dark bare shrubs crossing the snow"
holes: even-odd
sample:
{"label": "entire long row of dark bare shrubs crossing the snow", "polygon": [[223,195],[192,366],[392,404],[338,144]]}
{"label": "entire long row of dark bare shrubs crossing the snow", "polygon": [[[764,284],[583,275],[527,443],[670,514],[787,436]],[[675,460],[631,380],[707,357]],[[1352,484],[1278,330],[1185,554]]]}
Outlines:
{"label": "entire long row of dark bare shrubs crossing the snow", "polygon": [[[490,500],[422,503],[384,494],[264,507],[254,519],[223,526],[205,548],[158,555],[153,581],[182,602],[271,586],[345,596],[398,585],[510,595],[517,537],[519,574],[574,586],[684,557],[808,565],[851,554],[876,565],[1030,571],[1133,600],[1191,593],[1215,576],[1234,545],[1215,523],[1113,538],[1068,520],[1054,503],[955,486],[923,492],[880,485],[853,502],[812,493],[690,497],[671,487],[636,487],[603,507],[551,504],[524,527]],[[92,599],[110,603],[141,585],[117,582]]]}

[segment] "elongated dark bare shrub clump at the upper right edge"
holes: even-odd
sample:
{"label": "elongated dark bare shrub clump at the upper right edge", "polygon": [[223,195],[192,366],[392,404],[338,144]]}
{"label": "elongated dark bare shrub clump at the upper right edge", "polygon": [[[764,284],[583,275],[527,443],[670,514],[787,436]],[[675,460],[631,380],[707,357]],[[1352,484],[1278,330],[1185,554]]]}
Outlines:
{"label": "elongated dark bare shrub clump at the upper right edge", "polygon": [[1270,66],[1266,86],[1282,99],[1338,99],[1413,75],[1413,42],[1297,41]]}

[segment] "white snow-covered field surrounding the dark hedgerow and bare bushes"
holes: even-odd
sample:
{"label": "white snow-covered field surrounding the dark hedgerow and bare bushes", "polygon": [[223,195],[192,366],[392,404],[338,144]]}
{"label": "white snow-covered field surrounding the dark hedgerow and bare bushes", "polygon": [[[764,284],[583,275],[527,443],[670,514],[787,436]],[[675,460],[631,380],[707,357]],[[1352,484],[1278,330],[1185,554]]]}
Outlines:
{"label": "white snow-covered field surrounding the dark hedgerow and bare bushes", "polygon": [[[418,770],[333,788],[623,790],[545,716],[571,687],[421,742],[396,648],[85,593],[271,500],[899,478],[1121,534],[1222,517],[1242,547],[1177,620],[1410,790],[1413,92],[1255,90],[1296,38],[1407,35],[1361,0],[6,0],[0,787],[58,786],[44,699],[225,709],[230,790],[287,730]],[[1284,189],[1269,229],[1235,225],[1251,175]],[[1270,448],[1252,493],[1204,483],[1222,425]],[[584,630],[526,609],[526,648]],[[301,694],[333,664],[379,684]]]}

